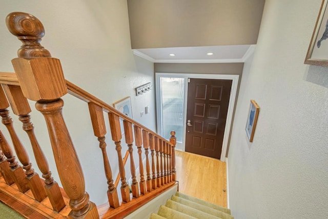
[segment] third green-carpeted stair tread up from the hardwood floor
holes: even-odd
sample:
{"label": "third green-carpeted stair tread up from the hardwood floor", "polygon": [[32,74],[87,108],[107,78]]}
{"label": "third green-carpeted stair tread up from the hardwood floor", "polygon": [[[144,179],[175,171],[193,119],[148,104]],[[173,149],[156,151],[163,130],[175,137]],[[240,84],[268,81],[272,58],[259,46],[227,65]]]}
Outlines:
{"label": "third green-carpeted stair tread up from the hardwood floor", "polygon": [[182,204],[180,204],[178,202],[174,202],[172,200],[168,200],[166,202],[165,206],[167,206],[167,207],[169,207],[173,210],[179,211],[181,213],[185,213],[185,214],[188,214],[190,216],[200,218],[200,219],[202,219],[202,218],[203,219],[217,219],[217,218],[220,218],[220,217],[214,216],[212,214],[208,214],[206,212],[199,211],[199,210],[194,209],[192,207],[182,205]]}

